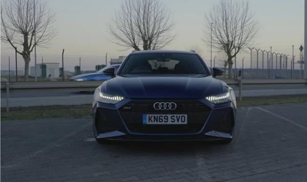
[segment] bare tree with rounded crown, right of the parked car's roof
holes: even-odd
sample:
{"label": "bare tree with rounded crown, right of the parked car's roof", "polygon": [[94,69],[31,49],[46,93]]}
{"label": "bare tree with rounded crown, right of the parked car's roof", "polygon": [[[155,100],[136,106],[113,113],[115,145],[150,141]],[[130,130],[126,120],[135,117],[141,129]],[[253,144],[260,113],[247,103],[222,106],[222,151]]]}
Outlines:
{"label": "bare tree with rounded crown, right of the parked car's roof", "polygon": [[247,48],[259,32],[258,21],[247,1],[220,0],[206,14],[205,42],[228,56],[228,78],[232,77],[232,58]]}

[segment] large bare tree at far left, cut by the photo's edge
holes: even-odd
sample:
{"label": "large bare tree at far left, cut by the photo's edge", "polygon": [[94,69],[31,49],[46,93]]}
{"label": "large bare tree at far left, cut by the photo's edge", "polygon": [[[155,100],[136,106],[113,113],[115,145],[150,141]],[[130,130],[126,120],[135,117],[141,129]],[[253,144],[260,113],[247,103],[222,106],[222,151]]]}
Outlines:
{"label": "large bare tree at far left, cut by the photo's edge", "polygon": [[[34,4],[35,3],[35,4]],[[34,21],[35,5],[35,21]],[[40,0],[9,0],[1,2],[1,40],[8,42],[25,61],[25,81],[35,44],[45,46],[55,35],[54,14]],[[36,34],[36,43],[33,37]]]}

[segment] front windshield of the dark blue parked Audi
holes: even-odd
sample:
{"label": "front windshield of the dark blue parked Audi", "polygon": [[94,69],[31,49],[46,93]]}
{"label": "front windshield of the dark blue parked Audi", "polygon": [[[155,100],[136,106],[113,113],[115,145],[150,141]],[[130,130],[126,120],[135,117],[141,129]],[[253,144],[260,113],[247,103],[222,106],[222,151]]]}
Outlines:
{"label": "front windshield of the dark blue parked Audi", "polygon": [[208,75],[205,63],[195,54],[135,54],[125,61],[120,75],[189,74]]}

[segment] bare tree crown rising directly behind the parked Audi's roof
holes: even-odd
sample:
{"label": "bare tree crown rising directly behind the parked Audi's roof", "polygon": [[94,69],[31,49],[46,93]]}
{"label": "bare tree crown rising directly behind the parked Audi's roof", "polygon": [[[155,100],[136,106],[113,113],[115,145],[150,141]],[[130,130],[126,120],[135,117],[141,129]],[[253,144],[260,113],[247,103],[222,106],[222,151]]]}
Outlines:
{"label": "bare tree crown rising directly behind the parked Audi's roof", "polygon": [[176,35],[171,35],[173,19],[170,11],[159,0],[123,1],[108,25],[111,41],[137,51],[165,47]]}

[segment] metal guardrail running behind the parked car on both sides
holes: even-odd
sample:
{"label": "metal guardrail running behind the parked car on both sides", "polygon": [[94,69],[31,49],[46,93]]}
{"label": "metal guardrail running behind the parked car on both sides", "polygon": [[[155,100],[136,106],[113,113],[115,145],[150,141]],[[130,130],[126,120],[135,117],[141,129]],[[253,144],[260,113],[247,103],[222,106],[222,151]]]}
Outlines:
{"label": "metal guardrail running behind the parked car on both sides", "polygon": [[[223,80],[223,79],[222,79]],[[237,85],[238,80],[223,80],[229,85]],[[103,81],[67,81],[67,82],[10,82],[10,89],[43,89],[43,88],[93,88]],[[242,84],[307,84],[304,79],[242,79]],[[1,82],[1,89],[6,89],[6,82]]]}

